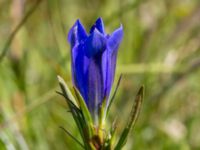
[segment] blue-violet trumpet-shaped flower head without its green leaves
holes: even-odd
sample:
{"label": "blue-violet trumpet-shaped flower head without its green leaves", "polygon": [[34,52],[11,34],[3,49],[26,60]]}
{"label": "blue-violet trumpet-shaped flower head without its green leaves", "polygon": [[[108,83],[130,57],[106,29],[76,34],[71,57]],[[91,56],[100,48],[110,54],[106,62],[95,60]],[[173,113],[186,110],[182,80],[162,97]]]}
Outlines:
{"label": "blue-violet trumpet-shaped flower head without its green leaves", "polygon": [[73,83],[93,117],[98,114],[102,101],[108,102],[122,37],[122,26],[106,34],[101,18],[96,20],[89,34],[79,20],[68,33]]}

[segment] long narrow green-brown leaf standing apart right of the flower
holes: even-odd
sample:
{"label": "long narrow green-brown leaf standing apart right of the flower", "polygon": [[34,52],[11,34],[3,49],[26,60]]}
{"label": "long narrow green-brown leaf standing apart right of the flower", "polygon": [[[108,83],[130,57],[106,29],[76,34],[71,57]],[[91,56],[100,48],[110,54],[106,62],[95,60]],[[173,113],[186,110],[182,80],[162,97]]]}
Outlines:
{"label": "long narrow green-brown leaf standing apart right of the flower", "polygon": [[135,98],[127,125],[126,125],[125,129],[123,130],[117,145],[115,146],[115,150],[121,150],[122,147],[126,144],[128,134],[129,134],[131,128],[135,125],[137,118],[139,116],[141,104],[143,101],[143,96],[144,96],[144,86],[142,86],[138,91],[138,94]]}

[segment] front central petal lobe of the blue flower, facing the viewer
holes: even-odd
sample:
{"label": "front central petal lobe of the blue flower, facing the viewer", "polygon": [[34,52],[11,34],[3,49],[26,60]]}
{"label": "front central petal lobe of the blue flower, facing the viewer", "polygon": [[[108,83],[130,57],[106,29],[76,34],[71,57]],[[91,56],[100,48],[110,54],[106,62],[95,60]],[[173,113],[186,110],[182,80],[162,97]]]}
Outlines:
{"label": "front central petal lobe of the blue flower, facing the viewer", "polygon": [[97,29],[84,42],[85,53],[88,57],[100,54],[106,48],[107,39]]}

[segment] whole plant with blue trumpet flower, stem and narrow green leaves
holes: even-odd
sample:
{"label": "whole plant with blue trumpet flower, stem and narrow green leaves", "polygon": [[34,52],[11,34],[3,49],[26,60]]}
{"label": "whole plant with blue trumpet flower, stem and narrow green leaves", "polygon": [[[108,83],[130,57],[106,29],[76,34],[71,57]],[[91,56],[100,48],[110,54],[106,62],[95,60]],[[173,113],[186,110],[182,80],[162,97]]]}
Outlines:
{"label": "whole plant with blue trumpet flower, stem and narrow green leaves", "polygon": [[135,98],[128,122],[121,135],[116,137],[117,123],[107,127],[107,116],[121,80],[120,76],[114,94],[111,96],[117,53],[122,38],[122,25],[113,33],[107,34],[101,18],[96,20],[89,34],[79,20],[75,22],[68,34],[73,88],[70,90],[64,80],[58,76],[61,87],[61,92],[58,93],[64,96],[70,108],[83,144],[65,131],[86,150],[122,149],[140,111],[143,87]]}

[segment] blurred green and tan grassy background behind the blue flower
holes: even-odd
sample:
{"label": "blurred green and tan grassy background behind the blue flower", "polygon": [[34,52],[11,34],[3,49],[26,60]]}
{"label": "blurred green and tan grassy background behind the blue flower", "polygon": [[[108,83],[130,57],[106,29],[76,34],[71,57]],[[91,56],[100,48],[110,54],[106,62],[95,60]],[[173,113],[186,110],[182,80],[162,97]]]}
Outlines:
{"label": "blurred green and tan grassy background behind the blue flower", "polygon": [[99,16],[107,33],[124,26],[109,116],[119,134],[145,85],[124,149],[199,150],[199,0],[0,0],[0,150],[81,149],[59,128],[81,140],[56,76],[72,85],[68,30],[78,18],[89,30]]}

